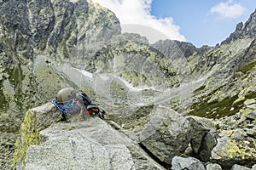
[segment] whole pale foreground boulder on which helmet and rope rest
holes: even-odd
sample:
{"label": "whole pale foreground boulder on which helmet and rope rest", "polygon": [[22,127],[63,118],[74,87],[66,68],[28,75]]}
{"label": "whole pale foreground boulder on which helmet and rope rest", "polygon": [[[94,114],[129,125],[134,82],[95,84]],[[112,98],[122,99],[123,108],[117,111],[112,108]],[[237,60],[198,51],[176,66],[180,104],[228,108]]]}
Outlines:
{"label": "whole pale foreground boulder on which helmet and rope rest", "polygon": [[[78,115],[70,122],[55,122],[58,115],[51,104],[27,112],[26,131],[20,131],[16,151],[17,169],[165,169],[102,119],[87,116],[84,120]],[[25,161],[19,157],[24,154]]]}

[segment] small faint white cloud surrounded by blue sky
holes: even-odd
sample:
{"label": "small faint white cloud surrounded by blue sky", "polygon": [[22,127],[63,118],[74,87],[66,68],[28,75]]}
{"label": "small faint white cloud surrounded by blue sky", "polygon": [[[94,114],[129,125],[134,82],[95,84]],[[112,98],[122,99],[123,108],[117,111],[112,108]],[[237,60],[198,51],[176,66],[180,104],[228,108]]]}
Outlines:
{"label": "small faint white cloud surrounded by blue sky", "polygon": [[246,8],[242,7],[240,3],[233,3],[233,0],[229,0],[212,7],[210,13],[218,14],[224,19],[234,19],[241,16],[245,10]]}

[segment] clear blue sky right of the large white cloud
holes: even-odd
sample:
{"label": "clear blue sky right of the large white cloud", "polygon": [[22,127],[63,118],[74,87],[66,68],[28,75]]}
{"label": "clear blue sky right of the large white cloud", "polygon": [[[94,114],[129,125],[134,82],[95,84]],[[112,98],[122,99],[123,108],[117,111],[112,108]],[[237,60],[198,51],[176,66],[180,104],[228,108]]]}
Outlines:
{"label": "clear blue sky right of the large white cloud", "polygon": [[[158,18],[172,17],[175,24],[180,27],[180,33],[197,47],[201,45],[216,45],[222,42],[236,29],[236,24],[245,22],[256,8],[255,0],[241,0],[230,2],[230,6],[240,4],[243,8],[241,14],[234,11],[234,17],[225,17],[223,14],[211,12],[211,8],[219,3],[227,3],[221,0],[154,0],[151,14]],[[234,9],[235,10],[235,9]]]}

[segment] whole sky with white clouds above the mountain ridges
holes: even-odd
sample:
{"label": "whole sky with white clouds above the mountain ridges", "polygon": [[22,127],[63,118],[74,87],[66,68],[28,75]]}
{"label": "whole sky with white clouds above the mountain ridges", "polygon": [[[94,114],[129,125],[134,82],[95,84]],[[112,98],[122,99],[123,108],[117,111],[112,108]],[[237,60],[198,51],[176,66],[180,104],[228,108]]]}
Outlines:
{"label": "whole sky with white clouds above the mountain ridges", "polygon": [[135,32],[150,43],[160,39],[215,46],[245,23],[255,0],[92,0],[119,18],[122,32]]}

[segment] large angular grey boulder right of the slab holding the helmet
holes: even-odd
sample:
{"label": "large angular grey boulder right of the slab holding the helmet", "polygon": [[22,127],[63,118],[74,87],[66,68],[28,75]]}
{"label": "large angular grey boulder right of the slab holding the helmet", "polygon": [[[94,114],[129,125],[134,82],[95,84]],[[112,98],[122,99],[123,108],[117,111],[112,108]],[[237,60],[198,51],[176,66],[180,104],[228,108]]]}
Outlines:
{"label": "large angular grey boulder right of the slab holding the helmet", "polygon": [[190,138],[189,121],[161,105],[139,137],[147,150],[167,164],[186,150]]}

